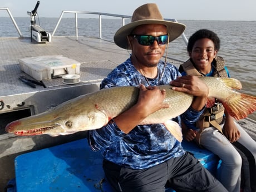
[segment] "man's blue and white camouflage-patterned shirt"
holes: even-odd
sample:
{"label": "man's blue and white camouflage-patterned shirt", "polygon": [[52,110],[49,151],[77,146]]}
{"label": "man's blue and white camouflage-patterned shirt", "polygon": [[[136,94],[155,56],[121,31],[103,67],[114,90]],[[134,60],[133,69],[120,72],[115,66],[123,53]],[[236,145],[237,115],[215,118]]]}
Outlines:
{"label": "man's blue and white camouflage-patterned shirt", "polygon": [[[148,78],[151,86],[169,84],[180,73],[178,68],[170,63],[160,61],[158,75],[154,79]],[[161,72],[163,76],[159,82]],[[115,86],[147,86],[145,77],[132,65],[130,58],[117,66],[102,81],[100,88]],[[113,103],[113,105],[115,105]],[[191,107],[182,115],[183,120],[193,124],[204,110],[195,111]],[[176,117],[180,124],[180,116]],[[172,157],[184,154],[181,143],[165,128],[163,124],[138,125],[129,134],[122,132],[115,122],[111,122],[101,129],[90,130],[88,142],[92,150],[103,150],[103,156],[115,164],[127,166],[131,169],[146,169],[161,164]]]}

